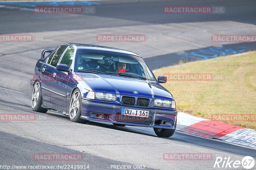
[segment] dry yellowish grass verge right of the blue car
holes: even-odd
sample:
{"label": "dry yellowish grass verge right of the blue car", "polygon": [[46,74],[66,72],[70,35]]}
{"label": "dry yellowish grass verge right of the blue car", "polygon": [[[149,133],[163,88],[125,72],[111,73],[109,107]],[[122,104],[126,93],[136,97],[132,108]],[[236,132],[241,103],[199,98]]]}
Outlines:
{"label": "dry yellowish grass verge right of the blue car", "polygon": [[[212,74],[215,80],[173,81],[176,73]],[[174,96],[177,110],[211,120],[216,114],[252,114],[254,117],[247,119],[250,121],[224,118],[220,122],[256,130],[256,53],[196,61],[155,73],[156,76],[166,74],[172,77],[162,85]]]}

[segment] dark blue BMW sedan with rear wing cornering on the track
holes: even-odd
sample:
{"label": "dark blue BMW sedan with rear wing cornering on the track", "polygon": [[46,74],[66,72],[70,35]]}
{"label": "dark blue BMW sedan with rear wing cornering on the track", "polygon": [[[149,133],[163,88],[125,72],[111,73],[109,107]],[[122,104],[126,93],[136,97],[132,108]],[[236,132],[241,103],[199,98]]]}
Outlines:
{"label": "dark blue BMW sedan with rear wing cornering on the track", "polygon": [[67,43],[42,52],[30,81],[31,107],[57,110],[79,123],[153,127],[157,136],[170,137],[177,111],[172,94],[159,84],[165,82],[137,53]]}

